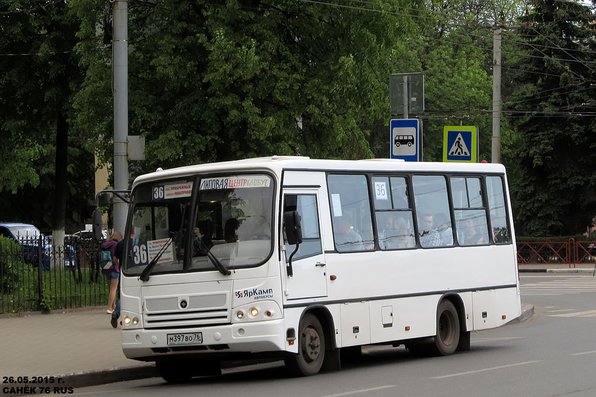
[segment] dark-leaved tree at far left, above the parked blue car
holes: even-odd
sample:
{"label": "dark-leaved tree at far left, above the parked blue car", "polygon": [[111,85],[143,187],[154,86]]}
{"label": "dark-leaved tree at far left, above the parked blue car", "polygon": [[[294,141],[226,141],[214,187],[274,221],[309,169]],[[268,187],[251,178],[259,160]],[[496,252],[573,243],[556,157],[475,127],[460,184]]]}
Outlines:
{"label": "dark-leaved tree at far left, above the parked blue car", "polygon": [[[10,192],[11,201],[17,202],[4,211],[14,218],[15,212],[24,212],[20,207],[35,199],[35,207],[51,214],[58,245],[64,236],[69,195],[72,95],[82,82],[79,56],[73,51],[78,27],[68,2],[0,4],[0,133],[4,138],[0,192],[4,196]],[[71,167],[70,171],[78,170]],[[51,183],[40,183],[44,176]],[[50,206],[48,198],[53,198]]]}

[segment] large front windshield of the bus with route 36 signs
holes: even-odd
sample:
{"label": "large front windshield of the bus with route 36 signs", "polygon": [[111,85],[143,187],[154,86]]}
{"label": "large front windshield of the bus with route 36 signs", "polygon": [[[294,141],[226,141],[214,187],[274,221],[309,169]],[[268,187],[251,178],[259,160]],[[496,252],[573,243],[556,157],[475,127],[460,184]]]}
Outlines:
{"label": "large front windshield of the bus with route 36 signs", "polygon": [[264,174],[139,185],[123,270],[140,274],[156,255],[151,274],[263,264],[273,248],[273,200],[272,178]]}

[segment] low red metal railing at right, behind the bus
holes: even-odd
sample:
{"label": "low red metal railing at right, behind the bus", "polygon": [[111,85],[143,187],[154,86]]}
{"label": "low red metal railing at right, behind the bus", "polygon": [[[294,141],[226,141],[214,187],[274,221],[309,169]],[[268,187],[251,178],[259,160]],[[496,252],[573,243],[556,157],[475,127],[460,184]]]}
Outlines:
{"label": "low red metal railing at right, behind the bus", "polygon": [[596,262],[596,241],[518,242],[518,264],[569,265]]}

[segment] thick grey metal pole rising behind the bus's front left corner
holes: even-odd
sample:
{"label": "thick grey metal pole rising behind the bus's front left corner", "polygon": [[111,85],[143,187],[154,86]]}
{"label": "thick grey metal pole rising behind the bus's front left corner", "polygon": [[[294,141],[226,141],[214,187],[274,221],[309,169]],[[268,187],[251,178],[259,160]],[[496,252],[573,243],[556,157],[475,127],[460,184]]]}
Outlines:
{"label": "thick grey metal pole rising behind the bus's front left corner", "polygon": [[[114,1],[114,190],[128,189],[128,0]],[[114,231],[124,235],[128,205],[114,196]],[[126,238],[126,236],[125,236]]]}

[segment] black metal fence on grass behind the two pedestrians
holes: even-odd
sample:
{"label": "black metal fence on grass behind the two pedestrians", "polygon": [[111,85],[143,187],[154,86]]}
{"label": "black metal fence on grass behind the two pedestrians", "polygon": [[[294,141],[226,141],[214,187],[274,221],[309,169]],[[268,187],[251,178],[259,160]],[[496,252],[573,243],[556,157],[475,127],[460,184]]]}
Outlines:
{"label": "black metal fence on grass behind the two pedestrians", "polygon": [[0,237],[0,314],[107,305],[100,245],[70,237],[54,249],[47,238]]}

